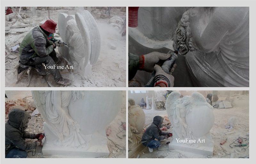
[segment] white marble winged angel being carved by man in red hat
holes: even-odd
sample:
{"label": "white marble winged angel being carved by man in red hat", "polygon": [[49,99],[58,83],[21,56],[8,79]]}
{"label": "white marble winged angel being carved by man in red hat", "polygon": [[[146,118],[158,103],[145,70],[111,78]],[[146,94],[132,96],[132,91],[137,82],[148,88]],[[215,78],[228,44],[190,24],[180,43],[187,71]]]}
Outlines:
{"label": "white marble winged angel being carved by man in red hat", "polygon": [[81,75],[88,76],[100,56],[100,32],[95,19],[84,10],[75,15],[60,13],[58,23],[60,37],[69,45],[60,47],[60,53]]}

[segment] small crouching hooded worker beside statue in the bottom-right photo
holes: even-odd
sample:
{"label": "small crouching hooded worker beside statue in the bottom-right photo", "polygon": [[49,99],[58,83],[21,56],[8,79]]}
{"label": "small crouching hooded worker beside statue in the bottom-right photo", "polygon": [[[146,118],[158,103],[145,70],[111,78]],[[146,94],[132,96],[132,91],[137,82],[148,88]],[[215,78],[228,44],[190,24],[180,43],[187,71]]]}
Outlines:
{"label": "small crouching hooded worker beside statue in the bottom-right photo", "polygon": [[[172,133],[163,132],[162,130],[160,130],[160,126],[162,125],[163,121],[163,117],[155,116],[153,119],[153,123],[146,129],[141,138],[141,143],[144,146],[148,147],[150,153],[152,153],[154,149],[158,148],[161,145],[159,140],[163,140],[172,136]],[[157,139],[158,141],[156,141],[155,139]]]}

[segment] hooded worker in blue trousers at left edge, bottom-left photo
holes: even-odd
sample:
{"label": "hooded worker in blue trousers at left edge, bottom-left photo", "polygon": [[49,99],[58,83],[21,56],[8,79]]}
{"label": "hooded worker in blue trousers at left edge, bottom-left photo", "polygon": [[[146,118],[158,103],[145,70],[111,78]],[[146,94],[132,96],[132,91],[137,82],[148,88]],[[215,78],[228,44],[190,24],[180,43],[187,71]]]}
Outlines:
{"label": "hooded worker in blue trousers at left edge, bottom-left photo", "polygon": [[[9,120],[5,123],[5,158],[27,158],[26,150],[34,149],[42,144],[42,133],[28,133],[25,129],[31,116],[22,109],[12,109]],[[38,139],[33,143],[26,143],[25,138]],[[40,138],[40,139],[39,139]]]}

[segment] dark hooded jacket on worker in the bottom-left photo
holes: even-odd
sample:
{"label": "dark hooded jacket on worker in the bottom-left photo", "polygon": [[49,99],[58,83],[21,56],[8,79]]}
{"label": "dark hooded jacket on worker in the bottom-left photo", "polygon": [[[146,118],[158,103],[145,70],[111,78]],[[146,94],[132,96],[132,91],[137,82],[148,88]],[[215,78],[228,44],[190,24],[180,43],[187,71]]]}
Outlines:
{"label": "dark hooded jacket on worker in the bottom-left photo", "polygon": [[21,150],[36,147],[36,142],[26,143],[24,140],[24,138],[35,139],[35,134],[25,131],[30,117],[28,112],[21,109],[16,108],[10,111],[9,120],[5,123],[5,157],[14,147]]}

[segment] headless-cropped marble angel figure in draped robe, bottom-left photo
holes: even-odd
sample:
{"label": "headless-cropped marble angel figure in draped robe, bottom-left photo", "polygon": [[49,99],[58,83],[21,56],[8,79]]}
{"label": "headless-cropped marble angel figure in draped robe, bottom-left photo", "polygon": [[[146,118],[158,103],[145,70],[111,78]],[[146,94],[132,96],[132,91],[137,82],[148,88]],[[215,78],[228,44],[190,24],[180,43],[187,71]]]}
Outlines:
{"label": "headless-cropped marble angel figure in draped robe, bottom-left photo", "polygon": [[[46,132],[46,137],[55,138],[49,141],[64,147],[86,146],[86,141],[80,134],[80,126],[68,113],[69,103],[83,98],[83,92],[32,91],[32,94],[39,112],[45,119],[44,126],[51,130],[51,132]],[[51,136],[52,133],[55,136]]]}

